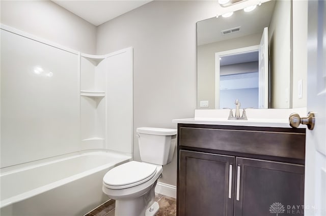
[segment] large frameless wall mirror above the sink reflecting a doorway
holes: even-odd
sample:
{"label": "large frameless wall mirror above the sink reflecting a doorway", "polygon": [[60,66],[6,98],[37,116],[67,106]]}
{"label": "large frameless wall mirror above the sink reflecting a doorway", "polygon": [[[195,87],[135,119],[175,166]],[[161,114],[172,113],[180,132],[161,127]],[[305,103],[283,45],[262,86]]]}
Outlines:
{"label": "large frameless wall mirror above the sink reflecting a doorway", "polygon": [[[197,109],[291,108],[291,1],[197,22]],[[268,47],[268,49],[266,49]]]}

